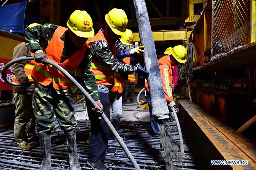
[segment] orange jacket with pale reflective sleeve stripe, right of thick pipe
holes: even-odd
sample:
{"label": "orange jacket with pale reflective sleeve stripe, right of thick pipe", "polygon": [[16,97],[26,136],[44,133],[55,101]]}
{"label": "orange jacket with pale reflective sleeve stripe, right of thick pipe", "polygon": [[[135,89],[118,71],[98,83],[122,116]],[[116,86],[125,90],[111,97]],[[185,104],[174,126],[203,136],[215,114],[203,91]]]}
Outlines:
{"label": "orange jacket with pale reflective sleeve stripe, right of thick pipe", "polygon": [[[165,55],[158,60],[160,74],[162,78],[164,96],[167,101],[173,101],[172,97],[172,64],[169,55]],[[145,83],[145,88],[148,90],[148,81]]]}

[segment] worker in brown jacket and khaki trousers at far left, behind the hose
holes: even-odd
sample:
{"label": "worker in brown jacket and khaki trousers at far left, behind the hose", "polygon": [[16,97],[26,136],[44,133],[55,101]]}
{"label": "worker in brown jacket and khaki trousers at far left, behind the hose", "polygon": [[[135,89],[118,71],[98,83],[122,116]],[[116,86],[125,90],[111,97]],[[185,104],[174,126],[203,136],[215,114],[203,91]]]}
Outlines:
{"label": "worker in brown jacket and khaki trousers at far left, behind the hose", "polygon": [[[34,23],[29,26],[39,26],[40,24]],[[16,59],[23,56],[33,56],[34,54],[27,51],[25,42],[18,44],[13,50],[12,59]],[[35,116],[32,108],[32,93],[34,85],[31,84],[33,79],[31,78],[32,69],[35,66],[34,60],[21,61],[15,63],[12,66],[14,73],[13,82],[21,83],[21,86],[13,86],[15,120],[14,120],[14,137],[18,146],[22,150],[30,150],[32,146],[28,143],[28,140],[36,138],[35,131]]]}

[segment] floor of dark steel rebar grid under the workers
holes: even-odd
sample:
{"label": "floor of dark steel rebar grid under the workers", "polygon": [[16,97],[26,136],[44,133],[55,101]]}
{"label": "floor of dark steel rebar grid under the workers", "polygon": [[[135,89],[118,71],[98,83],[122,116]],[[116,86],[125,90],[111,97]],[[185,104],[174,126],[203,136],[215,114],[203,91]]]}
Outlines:
{"label": "floor of dark steel rebar grid under the workers", "polygon": [[[89,144],[87,139],[90,133],[90,121],[77,121],[77,155],[81,169],[91,169],[86,165],[89,157]],[[174,141],[179,145],[179,134],[176,124],[168,122],[167,129],[172,134]],[[160,146],[160,139],[152,137],[150,122],[121,122],[118,133],[124,138],[124,143],[132,153],[141,169],[164,170],[164,152]],[[183,135],[185,153],[177,153],[179,159],[175,159],[177,169],[198,169],[196,161]],[[13,128],[0,129],[0,169],[39,169],[42,155],[38,142],[32,142],[34,149],[22,151],[14,139]],[[104,163],[108,169],[133,170],[131,162],[125,155],[119,143],[113,136],[109,137],[108,146],[117,149],[114,155],[106,154]],[[179,149],[179,147],[177,146]],[[52,130],[51,160],[52,169],[68,168],[68,152],[65,143],[64,132],[59,128]]]}

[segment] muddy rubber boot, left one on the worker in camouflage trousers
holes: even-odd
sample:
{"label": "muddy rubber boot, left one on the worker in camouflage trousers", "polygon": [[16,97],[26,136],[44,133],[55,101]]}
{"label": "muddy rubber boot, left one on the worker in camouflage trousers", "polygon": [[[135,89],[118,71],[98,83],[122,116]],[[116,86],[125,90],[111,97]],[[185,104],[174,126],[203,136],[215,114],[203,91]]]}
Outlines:
{"label": "muddy rubber boot, left one on the worker in camouflage trousers", "polygon": [[51,135],[46,133],[38,134],[39,143],[42,149],[43,161],[40,170],[51,169]]}

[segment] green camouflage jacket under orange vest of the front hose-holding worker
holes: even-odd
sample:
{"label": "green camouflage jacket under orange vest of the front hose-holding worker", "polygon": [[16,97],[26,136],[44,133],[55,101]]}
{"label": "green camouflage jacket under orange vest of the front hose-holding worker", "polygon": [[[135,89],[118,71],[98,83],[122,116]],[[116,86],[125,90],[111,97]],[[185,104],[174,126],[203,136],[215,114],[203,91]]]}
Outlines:
{"label": "green camouflage jacket under orange vest of the front hose-holding worker", "polygon": [[[41,44],[43,49],[45,49],[51,41],[53,33],[57,28],[58,26],[53,24],[44,24],[43,26],[27,27],[24,31],[27,50],[35,52],[41,49],[39,44]],[[76,47],[71,42],[68,36],[68,31],[66,31],[60,38],[63,41],[65,41],[60,60],[60,62],[63,63],[78,49],[78,47]],[[85,90],[91,95],[93,100],[100,100],[98,87],[95,82],[95,76],[92,73],[92,57],[89,55],[89,50],[86,51],[83,57],[84,58],[80,63],[79,68],[82,71],[82,78],[84,80]]]}

